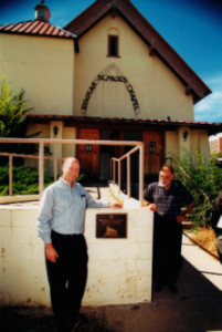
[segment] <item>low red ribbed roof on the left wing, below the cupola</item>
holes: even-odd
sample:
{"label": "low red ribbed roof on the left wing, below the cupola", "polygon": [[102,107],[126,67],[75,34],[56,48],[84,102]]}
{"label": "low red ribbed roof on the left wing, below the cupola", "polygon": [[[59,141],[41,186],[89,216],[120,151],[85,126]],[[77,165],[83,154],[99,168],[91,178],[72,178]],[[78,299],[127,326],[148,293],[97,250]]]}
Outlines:
{"label": "low red ribbed roof on the left wing, below the cupola", "polygon": [[75,38],[72,32],[65,31],[61,28],[40,20],[0,25],[0,33],[55,37],[66,39]]}

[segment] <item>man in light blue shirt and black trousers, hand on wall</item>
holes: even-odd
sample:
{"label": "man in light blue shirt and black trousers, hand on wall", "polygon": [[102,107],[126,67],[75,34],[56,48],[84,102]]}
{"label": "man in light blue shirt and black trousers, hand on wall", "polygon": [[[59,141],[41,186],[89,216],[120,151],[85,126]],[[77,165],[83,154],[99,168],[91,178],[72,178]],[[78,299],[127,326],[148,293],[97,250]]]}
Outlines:
{"label": "man in light blue shirt and black trousers, hand on wall", "polygon": [[80,162],[66,158],[62,177],[43,193],[38,234],[45,243],[46,270],[57,331],[71,331],[80,323],[80,309],[87,279],[85,209],[120,208],[95,200],[75,179]]}

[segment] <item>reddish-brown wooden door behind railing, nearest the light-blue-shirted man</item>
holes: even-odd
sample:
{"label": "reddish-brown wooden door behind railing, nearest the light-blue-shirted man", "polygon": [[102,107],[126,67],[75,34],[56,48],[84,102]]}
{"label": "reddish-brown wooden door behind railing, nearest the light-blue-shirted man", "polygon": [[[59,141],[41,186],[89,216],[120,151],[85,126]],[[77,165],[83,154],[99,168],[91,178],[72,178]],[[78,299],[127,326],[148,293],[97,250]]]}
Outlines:
{"label": "reddish-brown wooden door behind railing, nearest the light-blue-shirted man", "polygon": [[[99,139],[99,131],[97,129],[80,129],[80,139]],[[81,173],[84,173],[88,177],[98,176],[98,165],[99,165],[99,146],[92,145],[77,145],[77,158],[81,163]]]}

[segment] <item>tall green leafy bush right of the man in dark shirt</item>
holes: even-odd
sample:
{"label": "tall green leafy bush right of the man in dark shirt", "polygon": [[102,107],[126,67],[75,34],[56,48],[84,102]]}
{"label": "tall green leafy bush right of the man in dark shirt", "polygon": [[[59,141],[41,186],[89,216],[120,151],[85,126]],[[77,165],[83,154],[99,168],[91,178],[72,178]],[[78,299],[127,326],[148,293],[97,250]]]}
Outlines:
{"label": "tall green leafy bush right of the man in dark shirt", "polygon": [[194,197],[195,206],[190,219],[197,226],[210,224],[213,203],[222,189],[222,169],[216,165],[215,155],[207,158],[200,151],[184,153],[179,160],[173,158],[176,178],[181,180]]}

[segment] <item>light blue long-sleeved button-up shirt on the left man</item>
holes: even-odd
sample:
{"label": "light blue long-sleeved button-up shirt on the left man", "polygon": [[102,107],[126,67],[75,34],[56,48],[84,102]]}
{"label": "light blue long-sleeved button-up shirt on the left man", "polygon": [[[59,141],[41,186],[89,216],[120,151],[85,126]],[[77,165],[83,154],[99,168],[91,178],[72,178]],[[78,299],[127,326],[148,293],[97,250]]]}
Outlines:
{"label": "light blue long-sleeved button-up shirt on the left man", "polygon": [[60,178],[43,193],[38,216],[38,235],[44,243],[52,242],[51,230],[63,235],[83,234],[85,209],[108,207],[95,200],[84,187],[70,184]]}

